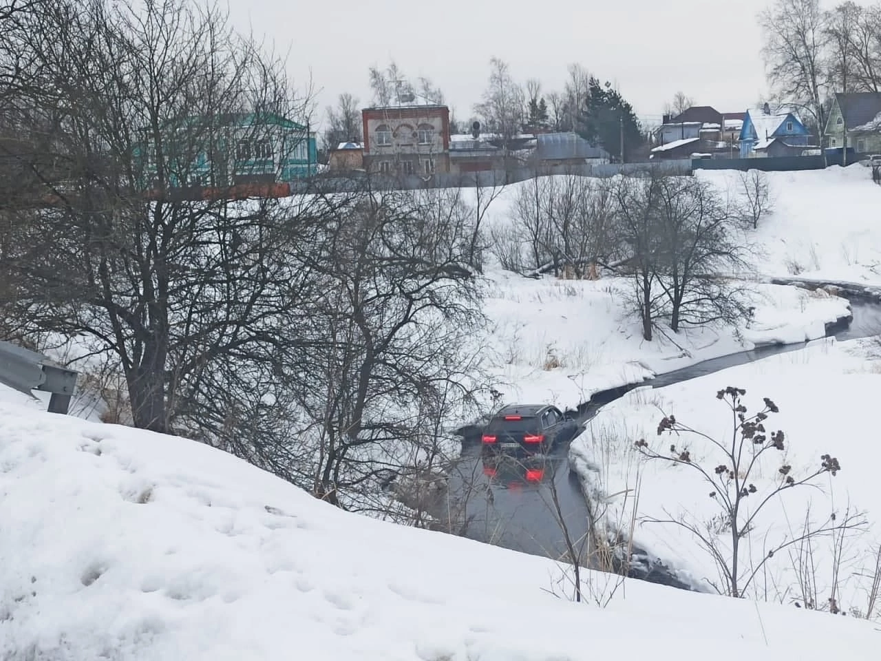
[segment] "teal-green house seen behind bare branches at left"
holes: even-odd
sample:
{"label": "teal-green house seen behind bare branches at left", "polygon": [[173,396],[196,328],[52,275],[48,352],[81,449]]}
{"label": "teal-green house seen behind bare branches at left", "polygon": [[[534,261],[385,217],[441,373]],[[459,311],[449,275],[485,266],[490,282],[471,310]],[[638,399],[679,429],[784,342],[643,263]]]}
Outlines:
{"label": "teal-green house seen behind bare branches at left", "polygon": [[270,113],[185,117],[143,135],[135,158],[148,188],[292,182],[317,171],[315,134]]}

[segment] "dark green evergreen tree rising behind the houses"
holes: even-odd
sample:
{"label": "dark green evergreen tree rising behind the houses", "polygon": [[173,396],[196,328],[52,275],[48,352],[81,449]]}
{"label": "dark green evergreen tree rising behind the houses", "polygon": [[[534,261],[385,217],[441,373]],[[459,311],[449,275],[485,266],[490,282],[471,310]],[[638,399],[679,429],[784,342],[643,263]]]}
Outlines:
{"label": "dark green evergreen tree rising behind the houses", "polygon": [[588,98],[581,108],[575,131],[591,144],[602,146],[617,160],[621,158],[621,133],[624,133],[625,160],[642,146],[645,139],[633,106],[606,81],[591,77]]}

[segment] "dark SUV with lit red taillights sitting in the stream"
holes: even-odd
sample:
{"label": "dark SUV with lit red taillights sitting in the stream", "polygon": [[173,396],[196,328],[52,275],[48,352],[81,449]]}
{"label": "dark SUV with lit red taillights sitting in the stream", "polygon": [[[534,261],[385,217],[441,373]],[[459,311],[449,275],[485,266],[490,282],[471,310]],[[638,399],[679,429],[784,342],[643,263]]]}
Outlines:
{"label": "dark SUV with lit red taillights sitting in the stream", "polygon": [[577,431],[575,421],[556,406],[514,404],[492,416],[481,440],[485,450],[543,455]]}

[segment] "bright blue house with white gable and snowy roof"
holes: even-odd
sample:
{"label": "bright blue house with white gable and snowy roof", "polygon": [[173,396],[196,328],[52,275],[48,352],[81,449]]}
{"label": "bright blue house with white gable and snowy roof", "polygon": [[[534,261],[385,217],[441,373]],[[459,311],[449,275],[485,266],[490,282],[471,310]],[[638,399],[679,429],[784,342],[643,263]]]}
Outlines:
{"label": "bright blue house with white gable and snowy roof", "polygon": [[741,158],[798,155],[811,146],[811,131],[788,110],[764,108],[746,111],[740,130]]}

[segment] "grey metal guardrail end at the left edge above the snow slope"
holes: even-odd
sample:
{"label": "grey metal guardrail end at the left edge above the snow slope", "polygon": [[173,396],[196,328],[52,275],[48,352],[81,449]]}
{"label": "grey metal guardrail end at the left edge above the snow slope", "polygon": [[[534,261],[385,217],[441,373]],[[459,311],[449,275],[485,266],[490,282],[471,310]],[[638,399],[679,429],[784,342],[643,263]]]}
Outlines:
{"label": "grey metal guardrail end at the left edge above the snow slope", "polygon": [[0,341],[0,383],[32,395],[32,390],[52,393],[48,412],[66,414],[79,373],[63,368],[42,353]]}

